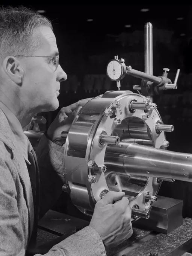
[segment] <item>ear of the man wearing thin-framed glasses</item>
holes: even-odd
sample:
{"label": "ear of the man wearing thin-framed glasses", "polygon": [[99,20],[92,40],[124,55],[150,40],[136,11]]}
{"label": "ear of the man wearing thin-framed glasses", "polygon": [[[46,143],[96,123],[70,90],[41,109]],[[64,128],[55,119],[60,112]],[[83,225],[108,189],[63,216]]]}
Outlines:
{"label": "ear of the man wearing thin-framed glasses", "polygon": [[3,69],[12,81],[22,84],[24,70],[21,68],[20,61],[12,56],[7,56],[3,61]]}

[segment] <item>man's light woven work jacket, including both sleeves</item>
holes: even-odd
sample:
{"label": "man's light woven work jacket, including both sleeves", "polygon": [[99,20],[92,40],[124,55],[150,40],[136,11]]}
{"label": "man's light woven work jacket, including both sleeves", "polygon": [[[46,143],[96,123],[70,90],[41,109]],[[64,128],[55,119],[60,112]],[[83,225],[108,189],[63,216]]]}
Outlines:
{"label": "man's light woven work jacket, including both sleeves", "polygon": [[[30,164],[27,153],[32,151],[32,145],[25,135],[18,136],[7,112],[2,109],[0,105],[0,256],[24,256],[34,224],[32,187],[27,169]],[[45,135],[36,149],[41,181],[40,217],[62,192],[63,150]],[[106,251],[100,235],[88,226],[54,245],[45,255],[106,256]]]}

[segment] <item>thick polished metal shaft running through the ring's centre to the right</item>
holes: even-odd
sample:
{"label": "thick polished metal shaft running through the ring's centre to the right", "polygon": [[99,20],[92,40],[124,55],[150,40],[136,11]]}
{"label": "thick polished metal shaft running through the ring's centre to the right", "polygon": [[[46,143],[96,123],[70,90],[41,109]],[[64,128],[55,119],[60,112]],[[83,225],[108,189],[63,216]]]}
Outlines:
{"label": "thick polished metal shaft running through the ring's centre to the right", "polygon": [[106,149],[107,171],[192,182],[192,154],[121,142]]}

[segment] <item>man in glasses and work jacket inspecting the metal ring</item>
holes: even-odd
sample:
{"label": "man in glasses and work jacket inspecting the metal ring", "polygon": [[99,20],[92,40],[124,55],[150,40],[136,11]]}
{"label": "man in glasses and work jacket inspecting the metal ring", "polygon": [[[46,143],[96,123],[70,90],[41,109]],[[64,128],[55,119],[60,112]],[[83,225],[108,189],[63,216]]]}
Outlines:
{"label": "man in glasses and work jacket inspecting the metal ring", "polygon": [[[0,256],[25,255],[35,244],[38,218],[62,192],[63,147],[53,143],[61,126],[86,103],[63,108],[35,152],[23,128],[35,113],[59,107],[59,65],[50,21],[26,8],[0,10]],[[69,115],[68,118],[66,114]],[[63,120],[64,119],[64,120]],[[63,128],[62,128],[63,129]],[[40,191],[40,192],[39,192]],[[39,201],[40,193],[40,201]],[[46,255],[106,255],[105,247],[132,235],[130,207],[122,192],[95,205],[88,227],[59,242]]]}

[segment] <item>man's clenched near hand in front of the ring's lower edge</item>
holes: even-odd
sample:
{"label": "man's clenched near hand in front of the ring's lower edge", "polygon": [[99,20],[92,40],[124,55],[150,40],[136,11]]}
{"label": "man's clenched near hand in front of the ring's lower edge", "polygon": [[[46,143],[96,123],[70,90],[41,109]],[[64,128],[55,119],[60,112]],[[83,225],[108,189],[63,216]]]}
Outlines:
{"label": "man's clenched near hand in front of the ring's lower edge", "polygon": [[113,247],[133,234],[131,209],[124,192],[109,191],[95,204],[89,226],[93,227],[106,247]]}

